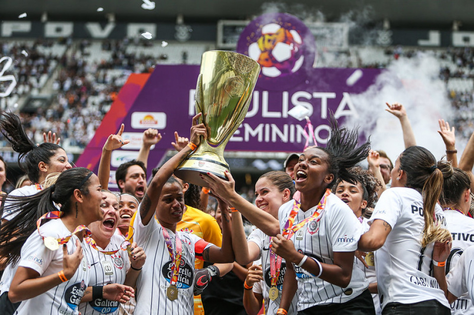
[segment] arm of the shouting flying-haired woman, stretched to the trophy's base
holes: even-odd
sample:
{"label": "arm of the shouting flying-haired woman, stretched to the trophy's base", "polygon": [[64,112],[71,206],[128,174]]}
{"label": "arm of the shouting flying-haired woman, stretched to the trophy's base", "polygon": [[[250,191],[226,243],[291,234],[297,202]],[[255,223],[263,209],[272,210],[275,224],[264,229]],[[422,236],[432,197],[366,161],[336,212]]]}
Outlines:
{"label": "arm of the shouting flying-haired woman, stretched to the trophy's base", "polygon": [[208,183],[212,193],[224,200],[231,207],[236,208],[252,224],[261,229],[269,236],[280,233],[280,222],[273,215],[259,209],[235,191],[235,181],[232,175],[226,171],[229,181],[223,180],[214,174],[202,175],[202,179]]}

